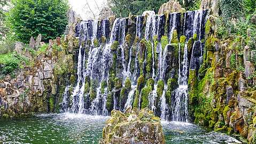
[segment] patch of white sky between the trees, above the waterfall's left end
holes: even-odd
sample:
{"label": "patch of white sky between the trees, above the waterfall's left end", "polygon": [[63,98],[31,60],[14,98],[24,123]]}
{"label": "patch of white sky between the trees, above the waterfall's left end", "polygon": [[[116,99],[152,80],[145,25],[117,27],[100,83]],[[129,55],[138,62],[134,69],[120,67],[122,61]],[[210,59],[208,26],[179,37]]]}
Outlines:
{"label": "patch of white sky between the trees, above the waterfall's left end", "polygon": [[[72,9],[77,13],[80,14],[83,20],[89,19],[98,19],[99,11],[102,10],[103,7],[107,6],[106,0],[68,0]],[[94,12],[94,15],[90,11],[87,2],[90,6],[90,9]],[[97,5],[99,7],[97,7]]]}

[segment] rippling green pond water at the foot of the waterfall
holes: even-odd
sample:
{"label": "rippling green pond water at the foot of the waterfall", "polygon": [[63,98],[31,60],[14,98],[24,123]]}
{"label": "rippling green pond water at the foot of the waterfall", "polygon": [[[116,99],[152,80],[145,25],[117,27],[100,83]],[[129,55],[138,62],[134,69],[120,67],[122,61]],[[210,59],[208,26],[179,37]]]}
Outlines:
{"label": "rippling green pond water at the foot of the waterfall", "polygon": [[[107,116],[42,114],[0,120],[0,143],[98,143]],[[241,143],[190,123],[161,122],[166,143]]]}

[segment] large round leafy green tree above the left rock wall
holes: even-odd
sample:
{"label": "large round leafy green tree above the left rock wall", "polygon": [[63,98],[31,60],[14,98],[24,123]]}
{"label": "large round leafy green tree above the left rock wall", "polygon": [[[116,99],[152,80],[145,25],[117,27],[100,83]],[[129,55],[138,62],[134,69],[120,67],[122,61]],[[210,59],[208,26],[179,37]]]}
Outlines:
{"label": "large round leafy green tree above the left rock wall", "polygon": [[42,40],[64,33],[67,25],[67,0],[13,0],[7,13],[7,26],[17,40],[28,42],[31,36],[42,34]]}

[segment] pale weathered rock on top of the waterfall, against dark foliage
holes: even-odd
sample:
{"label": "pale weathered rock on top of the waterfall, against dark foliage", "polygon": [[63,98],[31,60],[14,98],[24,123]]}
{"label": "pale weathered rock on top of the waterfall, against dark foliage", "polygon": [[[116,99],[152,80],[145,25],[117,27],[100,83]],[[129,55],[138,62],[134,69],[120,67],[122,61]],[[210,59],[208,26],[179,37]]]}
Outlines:
{"label": "pale weathered rock on top of the waterfall, against dark foliage", "polygon": [[170,12],[186,12],[184,8],[182,8],[181,4],[175,1],[169,1],[167,3],[162,4],[160,7],[158,14],[165,14],[165,13],[170,13]]}

